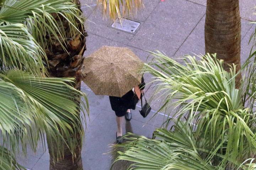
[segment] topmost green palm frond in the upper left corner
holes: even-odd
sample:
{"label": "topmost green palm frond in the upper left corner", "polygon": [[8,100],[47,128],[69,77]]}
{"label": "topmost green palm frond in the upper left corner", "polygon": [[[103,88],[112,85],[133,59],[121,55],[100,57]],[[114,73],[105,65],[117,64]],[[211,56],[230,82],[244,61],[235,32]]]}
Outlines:
{"label": "topmost green palm frond in the upper left corner", "polygon": [[65,28],[56,21],[54,18],[56,15],[66,19],[71,37],[80,32],[78,27],[84,26],[83,18],[80,17],[81,11],[72,0],[8,0],[0,10],[0,21],[2,23],[26,23],[34,39],[44,48],[47,42],[60,43],[64,48],[66,45]]}

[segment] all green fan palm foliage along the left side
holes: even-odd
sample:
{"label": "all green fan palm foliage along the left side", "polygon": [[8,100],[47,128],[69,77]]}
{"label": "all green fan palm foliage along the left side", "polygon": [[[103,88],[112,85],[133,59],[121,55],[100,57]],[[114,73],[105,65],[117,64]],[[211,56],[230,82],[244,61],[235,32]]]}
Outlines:
{"label": "all green fan palm foliage along the left side", "polygon": [[[1,1],[0,129],[2,146],[11,151],[3,148],[2,153],[15,152],[19,143],[24,152],[27,144],[35,151],[39,137],[46,133],[52,164],[67,152],[71,159],[78,158],[76,152],[84,134],[80,111],[85,113],[81,108],[87,107],[80,101],[84,95],[73,88],[73,78],[45,78],[49,74],[44,49],[49,47],[49,41],[65,45],[65,34],[54,14],[68,21],[73,35],[80,32],[76,28],[78,21],[83,24],[79,12],[71,0]],[[9,158],[1,162],[3,169],[20,167],[11,154],[1,158]],[[5,165],[8,161],[9,167]]]}

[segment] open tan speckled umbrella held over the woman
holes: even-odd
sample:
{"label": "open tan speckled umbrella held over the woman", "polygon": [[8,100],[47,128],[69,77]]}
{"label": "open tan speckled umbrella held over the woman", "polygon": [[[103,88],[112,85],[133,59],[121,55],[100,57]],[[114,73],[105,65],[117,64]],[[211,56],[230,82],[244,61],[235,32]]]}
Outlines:
{"label": "open tan speckled umbrella held over the woman", "polygon": [[103,46],[84,59],[84,82],[96,95],[122,97],[141,83],[143,63],[128,48]]}

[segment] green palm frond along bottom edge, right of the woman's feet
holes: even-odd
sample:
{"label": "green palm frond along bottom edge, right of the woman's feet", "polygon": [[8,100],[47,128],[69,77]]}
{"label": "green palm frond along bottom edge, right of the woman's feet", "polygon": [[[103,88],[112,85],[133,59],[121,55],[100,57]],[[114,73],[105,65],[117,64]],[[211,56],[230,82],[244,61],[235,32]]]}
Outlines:
{"label": "green palm frond along bottom edge, right of the woman's feet", "polygon": [[158,140],[128,134],[132,135],[125,136],[130,142],[121,145],[125,151],[119,152],[116,161],[135,162],[128,169],[224,170],[205,160],[196,149],[194,137],[187,133],[188,131],[180,130],[179,128],[171,132],[156,129],[154,134]]}

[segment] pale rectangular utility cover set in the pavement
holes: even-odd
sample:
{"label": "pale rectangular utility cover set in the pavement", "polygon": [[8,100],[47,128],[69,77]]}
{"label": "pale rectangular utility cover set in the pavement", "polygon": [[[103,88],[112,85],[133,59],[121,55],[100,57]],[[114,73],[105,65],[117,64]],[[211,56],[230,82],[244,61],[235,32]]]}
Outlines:
{"label": "pale rectangular utility cover set in the pavement", "polygon": [[114,22],[111,25],[111,27],[122,30],[122,31],[129,32],[129,33],[134,33],[140,25],[139,22],[132,21],[132,20],[126,19],[126,18],[122,18],[121,21],[122,21],[122,24],[121,24],[120,20],[117,18],[116,22]]}

